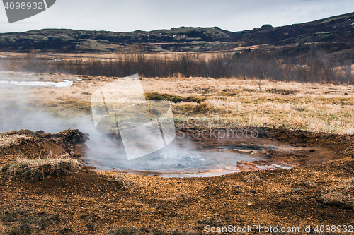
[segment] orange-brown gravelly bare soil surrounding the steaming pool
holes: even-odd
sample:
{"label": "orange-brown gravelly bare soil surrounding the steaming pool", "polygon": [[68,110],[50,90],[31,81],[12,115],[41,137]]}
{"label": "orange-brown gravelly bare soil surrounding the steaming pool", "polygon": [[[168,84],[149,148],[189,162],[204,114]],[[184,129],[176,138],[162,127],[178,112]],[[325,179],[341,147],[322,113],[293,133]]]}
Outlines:
{"label": "orange-brown gravelly bare soil surrounding the steaming pool", "polygon": [[[176,127],[187,131],[183,128],[188,126]],[[298,167],[189,179],[126,174],[130,187],[112,180],[115,172],[89,167],[79,174],[43,181],[3,175],[0,229],[12,234],[205,234],[207,225],[314,228],[353,224],[354,189],[341,186],[353,179],[353,135],[256,129],[258,138],[190,140],[206,150],[230,143],[299,147],[302,152],[297,155],[267,153],[268,161]],[[77,157],[85,149],[85,135],[75,131],[22,134],[34,137],[3,149],[1,164],[21,155],[44,157],[50,152],[73,151]],[[333,191],[343,195],[341,200],[322,199]]]}

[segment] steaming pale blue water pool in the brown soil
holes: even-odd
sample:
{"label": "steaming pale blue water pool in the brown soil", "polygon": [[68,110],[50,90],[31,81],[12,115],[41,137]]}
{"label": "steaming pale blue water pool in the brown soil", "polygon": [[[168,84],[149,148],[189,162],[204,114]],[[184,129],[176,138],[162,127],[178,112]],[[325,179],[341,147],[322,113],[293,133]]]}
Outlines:
{"label": "steaming pale blue water pool in the brown soil", "polygon": [[132,160],[127,160],[124,150],[118,148],[110,150],[103,152],[91,148],[84,159],[85,164],[103,171],[158,174],[164,177],[198,177],[239,172],[237,162],[265,160],[262,157],[253,157],[249,153],[188,150],[173,145]]}

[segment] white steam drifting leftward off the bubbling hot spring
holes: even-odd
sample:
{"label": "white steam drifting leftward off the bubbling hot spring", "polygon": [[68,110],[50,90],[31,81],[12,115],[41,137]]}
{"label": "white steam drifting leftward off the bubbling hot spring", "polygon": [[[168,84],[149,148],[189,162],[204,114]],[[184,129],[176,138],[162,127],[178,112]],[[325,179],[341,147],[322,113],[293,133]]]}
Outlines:
{"label": "white steam drifting leftward off the bubbling hot spring", "polygon": [[[16,78],[18,80],[19,78]],[[1,73],[0,80],[11,81],[11,76]],[[98,169],[135,169],[135,170],[163,170],[183,169],[190,167],[193,162],[195,167],[205,165],[200,154],[190,155],[186,149],[193,149],[192,145],[179,147],[171,143],[163,150],[153,152],[139,159],[127,160],[123,145],[113,134],[103,134],[96,131],[95,123],[90,114],[74,114],[71,118],[50,113],[45,107],[33,100],[31,86],[0,85],[0,131],[18,131],[29,129],[32,131],[43,130],[48,133],[58,133],[67,128],[78,128],[90,134],[86,142],[89,152],[86,162],[94,164]]]}

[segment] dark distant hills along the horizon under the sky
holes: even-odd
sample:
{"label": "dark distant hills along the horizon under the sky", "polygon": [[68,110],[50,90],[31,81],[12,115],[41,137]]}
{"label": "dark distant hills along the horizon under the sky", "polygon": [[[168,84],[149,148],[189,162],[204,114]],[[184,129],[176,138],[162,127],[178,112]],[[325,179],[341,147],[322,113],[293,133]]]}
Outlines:
{"label": "dark distant hills along the horizon under the sky", "polygon": [[275,28],[263,25],[241,32],[181,27],[150,32],[44,29],[0,34],[0,52],[216,52],[256,45],[283,52],[320,46],[353,56],[354,13]]}

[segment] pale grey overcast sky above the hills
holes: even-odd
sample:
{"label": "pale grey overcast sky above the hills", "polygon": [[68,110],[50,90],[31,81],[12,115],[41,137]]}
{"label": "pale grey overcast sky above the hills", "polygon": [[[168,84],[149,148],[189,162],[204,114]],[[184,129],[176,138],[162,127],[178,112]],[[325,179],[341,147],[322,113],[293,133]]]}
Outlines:
{"label": "pale grey overcast sky above the hills", "polygon": [[219,26],[239,31],[266,23],[304,23],[353,11],[353,0],[57,0],[46,11],[11,24],[1,5],[0,32],[43,28],[122,32],[180,26]]}

